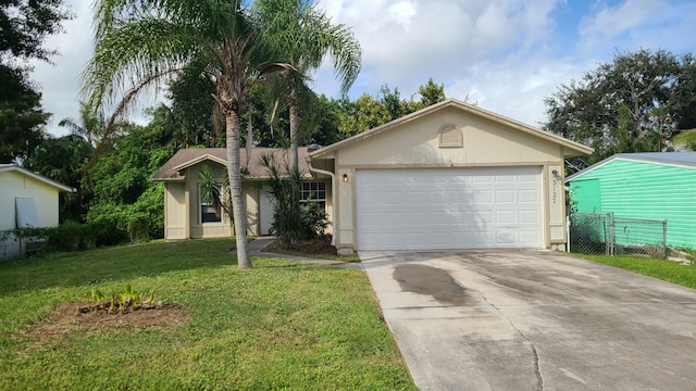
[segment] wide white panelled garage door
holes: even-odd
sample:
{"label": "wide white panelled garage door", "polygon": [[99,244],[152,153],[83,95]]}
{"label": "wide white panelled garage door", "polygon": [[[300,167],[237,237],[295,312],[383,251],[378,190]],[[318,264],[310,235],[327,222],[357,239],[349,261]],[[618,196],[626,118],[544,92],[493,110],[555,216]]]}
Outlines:
{"label": "wide white panelled garage door", "polygon": [[542,168],[359,169],[359,250],[542,247]]}

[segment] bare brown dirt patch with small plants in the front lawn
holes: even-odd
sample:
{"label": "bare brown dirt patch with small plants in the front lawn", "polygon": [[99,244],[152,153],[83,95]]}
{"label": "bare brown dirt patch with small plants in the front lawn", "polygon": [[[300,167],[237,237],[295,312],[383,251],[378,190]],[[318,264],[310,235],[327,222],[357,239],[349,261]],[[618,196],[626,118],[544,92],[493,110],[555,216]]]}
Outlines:
{"label": "bare brown dirt patch with small plants in the front lawn", "polygon": [[105,311],[88,311],[88,304],[64,303],[48,314],[41,321],[33,325],[23,337],[34,340],[33,345],[55,341],[75,331],[94,331],[103,329],[147,329],[181,324],[188,318],[188,313],[181,305],[161,304],[147,310],[127,313],[108,313]]}

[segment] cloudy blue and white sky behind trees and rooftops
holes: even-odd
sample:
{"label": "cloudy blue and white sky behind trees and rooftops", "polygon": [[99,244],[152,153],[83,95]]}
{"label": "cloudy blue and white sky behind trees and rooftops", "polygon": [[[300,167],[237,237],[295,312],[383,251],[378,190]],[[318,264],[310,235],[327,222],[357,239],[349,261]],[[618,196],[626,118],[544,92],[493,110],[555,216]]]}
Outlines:
{"label": "cloudy blue and white sky behind trees and rooftops", "polygon": [[[92,54],[91,3],[65,0],[75,18],[45,47],[60,54],[35,62],[32,78],[58,122],[79,118],[79,74]],[[334,24],[352,28],[362,48],[362,71],[351,99],[376,96],[383,86],[409,99],[433,78],[456,98],[540,126],[544,99],[579,80],[617,52],[664,49],[696,53],[693,0],[319,0]],[[319,93],[338,98],[326,62],[313,77]],[[158,102],[147,97],[141,106]],[[145,124],[135,114],[130,121]]]}

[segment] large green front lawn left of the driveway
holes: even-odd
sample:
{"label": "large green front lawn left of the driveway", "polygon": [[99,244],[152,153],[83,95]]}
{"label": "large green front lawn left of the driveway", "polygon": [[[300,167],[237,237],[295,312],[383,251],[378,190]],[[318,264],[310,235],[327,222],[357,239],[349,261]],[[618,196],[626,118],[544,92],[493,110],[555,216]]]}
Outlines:
{"label": "large green front lawn left of the driveway", "polygon": [[[229,239],[0,264],[0,389],[415,389],[362,272],[253,258]],[[90,290],[156,290],[185,321],[27,337]]]}

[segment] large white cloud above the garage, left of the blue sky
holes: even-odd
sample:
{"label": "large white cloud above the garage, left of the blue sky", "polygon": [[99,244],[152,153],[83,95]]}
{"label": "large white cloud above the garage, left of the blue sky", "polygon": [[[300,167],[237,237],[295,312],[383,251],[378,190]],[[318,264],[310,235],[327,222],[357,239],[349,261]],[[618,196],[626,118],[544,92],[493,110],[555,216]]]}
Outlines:
{"label": "large white cloud above the garage, left of the blue sky", "polygon": [[[453,98],[463,99],[467,94],[474,98],[480,94],[474,91],[496,89],[492,86],[507,91],[480,94],[484,104],[496,96],[515,99],[512,88],[517,85],[522,88],[522,84],[509,83],[513,76],[520,76],[519,64],[511,59],[546,47],[552,27],[550,12],[556,3],[556,0],[475,0],[467,4],[447,0],[427,3],[330,0],[320,5],[334,17],[334,23],[352,26],[361,42],[363,73],[352,89],[353,96],[363,91],[374,94],[386,84],[408,98],[428,77],[445,83],[446,93]],[[405,18],[408,23],[403,23]],[[320,71],[316,75],[320,91],[335,93],[324,85],[331,77],[328,66]],[[502,79],[508,83],[498,85]],[[535,119],[538,122],[538,115]]]}

